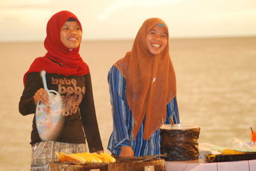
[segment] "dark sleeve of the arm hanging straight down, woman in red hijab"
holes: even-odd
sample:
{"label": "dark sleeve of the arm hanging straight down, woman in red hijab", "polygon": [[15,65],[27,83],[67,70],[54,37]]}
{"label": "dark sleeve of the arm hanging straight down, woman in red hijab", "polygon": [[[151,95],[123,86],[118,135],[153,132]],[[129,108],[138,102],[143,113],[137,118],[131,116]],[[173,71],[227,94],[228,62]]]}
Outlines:
{"label": "dark sleeve of the arm hanging straight down, woman in red hijab", "polygon": [[101,151],[103,150],[103,147],[95,113],[90,73],[85,75],[85,89],[86,93],[84,94],[84,98],[79,106],[84,133],[86,135],[90,152]]}

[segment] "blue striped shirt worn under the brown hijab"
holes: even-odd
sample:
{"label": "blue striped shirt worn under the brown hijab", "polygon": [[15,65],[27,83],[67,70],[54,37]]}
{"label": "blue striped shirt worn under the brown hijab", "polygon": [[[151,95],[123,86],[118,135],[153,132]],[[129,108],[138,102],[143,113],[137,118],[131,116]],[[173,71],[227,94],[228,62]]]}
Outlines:
{"label": "blue striped shirt worn under the brown hijab", "polygon": [[[126,80],[122,73],[120,73],[116,66],[112,66],[108,73],[108,84],[113,114],[113,132],[109,138],[108,149],[118,156],[120,155],[121,146],[131,146],[134,156],[160,154],[161,137],[159,129],[148,140],[143,140],[145,121],[141,124],[136,139],[133,140],[132,128],[134,126],[134,119],[125,97],[125,83]],[[179,123],[176,97],[168,103],[166,109],[165,124],[170,124],[170,117],[173,118],[173,123]]]}

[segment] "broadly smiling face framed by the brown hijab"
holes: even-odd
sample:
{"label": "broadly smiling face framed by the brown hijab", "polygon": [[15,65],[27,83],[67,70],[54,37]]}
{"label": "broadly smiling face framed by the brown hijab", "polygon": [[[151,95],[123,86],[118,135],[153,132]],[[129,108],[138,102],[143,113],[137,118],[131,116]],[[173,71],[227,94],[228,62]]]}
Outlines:
{"label": "broadly smiling face framed by the brown hijab", "polygon": [[156,56],[162,52],[162,50],[166,47],[168,41],[168,33],[166,33],[166,29],[164,26],[156,26],[152,27],[146,36],[146,44],[148,47],[148,51],[153,56]]}

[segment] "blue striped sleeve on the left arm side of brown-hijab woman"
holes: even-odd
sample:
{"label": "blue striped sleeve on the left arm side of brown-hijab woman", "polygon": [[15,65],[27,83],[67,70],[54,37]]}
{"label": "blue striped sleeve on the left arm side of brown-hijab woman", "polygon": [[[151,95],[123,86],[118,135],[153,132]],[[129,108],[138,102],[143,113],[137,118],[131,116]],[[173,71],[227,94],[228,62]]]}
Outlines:
{"label": "blue striped sleeve on the left arm side of brown-hijab woman", "polygon": [[115,66],[109,70],[108,84],[113,114],[113,132],[109,139],[108,149],[116,154],[121,146],[131,146],[128,131],[132,128],[130,125],[131,110],[125,98],[125,78]]}

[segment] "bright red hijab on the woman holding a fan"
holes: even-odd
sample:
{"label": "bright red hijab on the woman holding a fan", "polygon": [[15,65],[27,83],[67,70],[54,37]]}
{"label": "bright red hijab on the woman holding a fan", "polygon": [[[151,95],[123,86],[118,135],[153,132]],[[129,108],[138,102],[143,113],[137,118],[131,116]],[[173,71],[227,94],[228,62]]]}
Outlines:
{"label": "bright red hijab on the woman holding a fan", "polygon": [[60,31],[63,24],[69,19],[73,18],[79,24],[81,30],[82,26],[76,15],[70,11],[60,11],[52,15],[47,23],[47,36],[44,40],[44,47],[47,53],[44,57],[37,57],[25,73],[23,82],[26,83],[28,73],[40,72],[45,70],[46,73],[56,73],[59,75],[85,75],[89,72],[88,65],[84,63],[79,54],[79,47],[69,49],[63,45],[60,40]]}

